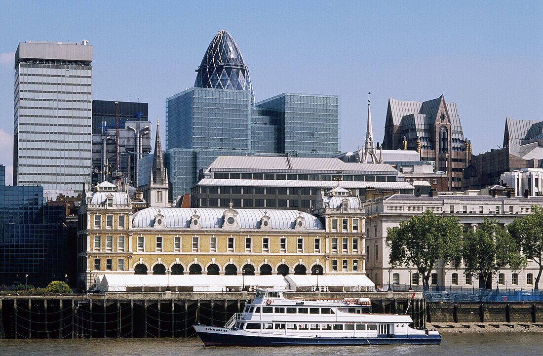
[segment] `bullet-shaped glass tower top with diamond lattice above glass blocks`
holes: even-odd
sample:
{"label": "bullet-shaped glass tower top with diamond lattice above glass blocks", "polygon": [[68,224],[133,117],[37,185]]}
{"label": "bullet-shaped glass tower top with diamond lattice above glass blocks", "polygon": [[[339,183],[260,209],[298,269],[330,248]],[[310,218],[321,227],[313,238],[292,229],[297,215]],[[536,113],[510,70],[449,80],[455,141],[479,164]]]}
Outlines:
{"label": "bullet-shaped glass tower top with diamond lattice above glass blocks", "polygon": [[250,90],[252,95],[249,71],[241,52],[224,30],[213,38],[196,71],[195,88]]}

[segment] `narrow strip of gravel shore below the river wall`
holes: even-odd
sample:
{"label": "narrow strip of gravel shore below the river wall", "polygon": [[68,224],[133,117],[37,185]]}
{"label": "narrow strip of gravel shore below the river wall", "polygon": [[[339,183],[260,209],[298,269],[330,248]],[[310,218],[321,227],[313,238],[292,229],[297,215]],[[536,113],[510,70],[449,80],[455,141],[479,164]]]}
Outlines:
{"label": "narrow strip of gravel shore below the river wall", "polygon": [[428,329],[443,333],[533,333],[543,332],[543,323],[485,322],[485,323],[427,323]]}

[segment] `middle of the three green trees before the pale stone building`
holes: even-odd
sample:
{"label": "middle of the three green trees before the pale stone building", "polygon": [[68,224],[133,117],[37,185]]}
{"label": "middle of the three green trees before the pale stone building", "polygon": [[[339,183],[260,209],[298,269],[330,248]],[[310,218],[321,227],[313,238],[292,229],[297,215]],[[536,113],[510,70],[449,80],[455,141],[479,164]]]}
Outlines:
{"label": "middle of the three green trees before the pale stone building", "polygon": [[519,245],[507,228],[486,217],[477,230],[470,229],[464,232],[462,257],[464,273],[479,274],[485,286],[487,280],[503,267],[509,266],[512,270],[519,270],[526,265]]}

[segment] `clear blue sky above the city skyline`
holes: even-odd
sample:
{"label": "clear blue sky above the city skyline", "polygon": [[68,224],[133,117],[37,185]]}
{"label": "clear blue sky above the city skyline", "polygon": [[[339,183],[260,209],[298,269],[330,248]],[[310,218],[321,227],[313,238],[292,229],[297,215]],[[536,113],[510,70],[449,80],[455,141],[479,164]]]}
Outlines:
{"label": "clear blue sky above the city skyline", "polygon": [[[88,40],[93,99],[149,103],[191,88],[219,30],[237,42],[256,101],[283,92],[341,97],[341,149],[374,141],[388,98],[456,102],[473,153],[498,148],[505,118],[543,120],[540,1],[0,0],[0,163],[11,182],[18,42]],[[165,125],[161,124],[162,141]],[[154,137],[154,128],[153,128]],[[165,147],[165,142],[162,142]]]}

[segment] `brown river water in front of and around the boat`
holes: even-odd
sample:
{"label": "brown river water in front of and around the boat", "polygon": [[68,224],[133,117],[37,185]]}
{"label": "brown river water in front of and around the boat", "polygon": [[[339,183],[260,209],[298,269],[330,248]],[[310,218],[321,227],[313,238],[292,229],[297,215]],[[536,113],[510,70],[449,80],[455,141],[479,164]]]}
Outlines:
{"label": "brown river water in front of and around the boat", "polygon": [[2,356],[543,355],[543,333],[444,334],[441,345],[204,347],[199,339],[0,340]]}

